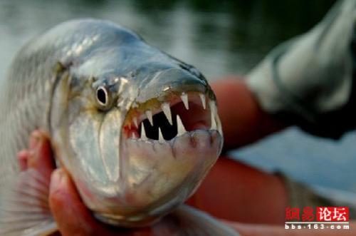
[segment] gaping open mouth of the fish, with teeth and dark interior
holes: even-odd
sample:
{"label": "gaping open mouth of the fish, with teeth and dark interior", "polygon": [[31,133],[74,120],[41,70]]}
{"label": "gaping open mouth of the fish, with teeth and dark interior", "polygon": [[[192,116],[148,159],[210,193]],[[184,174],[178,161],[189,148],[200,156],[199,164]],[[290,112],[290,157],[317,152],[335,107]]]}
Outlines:
{"label": "gaping open mouth of the fish, with teeth and dark interior", "polygon": [[131,108],[122,130],[126,139],[162,143],[194,130],[218,130],[221,135],[221,123],[216,101],[188,92]]}

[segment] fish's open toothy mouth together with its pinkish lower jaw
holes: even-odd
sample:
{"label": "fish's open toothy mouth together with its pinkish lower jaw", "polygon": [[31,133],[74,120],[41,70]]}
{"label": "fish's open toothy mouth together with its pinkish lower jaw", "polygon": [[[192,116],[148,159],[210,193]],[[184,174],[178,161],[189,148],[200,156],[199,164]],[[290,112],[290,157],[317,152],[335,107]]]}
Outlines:
{"label": "fish's open toothy mouth together with its pinkish lower jaw", "polygon": [[194,193],[223,143],[216,101],[207,94],[171,94],[127,112],[117,188],[96,201],[82,194],[98,219],[125,227],[148,225]]}

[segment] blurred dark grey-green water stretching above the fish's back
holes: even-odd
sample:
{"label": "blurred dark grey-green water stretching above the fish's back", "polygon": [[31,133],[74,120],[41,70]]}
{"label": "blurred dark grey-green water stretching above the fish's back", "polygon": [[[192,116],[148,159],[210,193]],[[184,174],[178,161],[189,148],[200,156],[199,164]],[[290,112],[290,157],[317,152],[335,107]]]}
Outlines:
{"label": "blurred dark grey-green water stretching above the fish's back", "polygon": [[0,1],[0,75],[21,44],[68,19],[109,19],[193,63],[209,78],[244,74],[309,29],[333,1]]}

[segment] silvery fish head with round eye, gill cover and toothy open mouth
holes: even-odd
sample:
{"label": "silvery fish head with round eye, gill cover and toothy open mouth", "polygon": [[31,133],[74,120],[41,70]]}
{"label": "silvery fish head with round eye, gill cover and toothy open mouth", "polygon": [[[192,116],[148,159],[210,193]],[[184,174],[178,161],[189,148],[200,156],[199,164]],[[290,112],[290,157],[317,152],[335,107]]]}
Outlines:
{"label": "silvery fish head with round eye, gill cover and toothy open mouth", "polygon": [[194,193],[221,152],[211,87],[196,68],[164,58],[125,70],[87,58],[54,91],[56,155],[103,222],[159,219]]}

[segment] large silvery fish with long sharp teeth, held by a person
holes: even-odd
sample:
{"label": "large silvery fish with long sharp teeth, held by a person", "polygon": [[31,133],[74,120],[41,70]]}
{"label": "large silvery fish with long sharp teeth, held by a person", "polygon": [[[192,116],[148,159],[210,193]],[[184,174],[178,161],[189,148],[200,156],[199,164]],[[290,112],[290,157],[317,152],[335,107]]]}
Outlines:
{"label": "large silvery fish with long sharp teeth, held by a person", "polygon": [[192,219],[186,235],[238,235],[183,206],[223,145],[216,97],[194,66],[110,21],[76,19],[26,43],[1,83],[0,235],[56,229],[48,181],[16,160],[35,129],[98,220],[142,227],[169,216]]}

